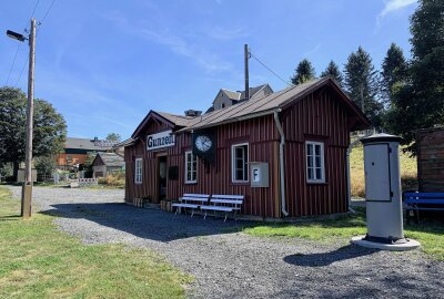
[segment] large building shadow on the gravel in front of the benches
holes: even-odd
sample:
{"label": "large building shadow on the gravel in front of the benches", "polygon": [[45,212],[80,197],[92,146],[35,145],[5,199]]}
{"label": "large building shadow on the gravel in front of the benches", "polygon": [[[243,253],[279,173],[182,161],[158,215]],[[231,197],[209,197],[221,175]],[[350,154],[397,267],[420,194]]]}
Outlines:
{"label": "large building shadow on the gravel in front of the benches", "polygon": [[172,241],[196,236],[228,234],[239,230],[244,221],[143,209],[123,203],[56,204],[42,214],[64,218],[87,219],[101,226],[122,230],[140,238]]}

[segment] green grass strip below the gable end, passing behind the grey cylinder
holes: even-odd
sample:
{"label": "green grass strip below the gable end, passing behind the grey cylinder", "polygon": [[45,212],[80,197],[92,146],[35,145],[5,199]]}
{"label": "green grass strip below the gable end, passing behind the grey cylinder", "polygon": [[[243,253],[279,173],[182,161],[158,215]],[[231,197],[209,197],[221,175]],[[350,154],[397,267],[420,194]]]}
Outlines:
{"label": "green grass strip below the gable end, passing behind the grey cylinder", "polygon": [[[407,238],[421,243],[425,254],[444,261],[444,226],[441,223],[420,221],[404,227]],[[349,243],[352,236],[365,235],[365,209],[359,208],[356,214],[337,219],[301,221],[297,224],[266,224],[244,227],[243,231],[258,237],[296,237],[326,241],[332,238]]]}

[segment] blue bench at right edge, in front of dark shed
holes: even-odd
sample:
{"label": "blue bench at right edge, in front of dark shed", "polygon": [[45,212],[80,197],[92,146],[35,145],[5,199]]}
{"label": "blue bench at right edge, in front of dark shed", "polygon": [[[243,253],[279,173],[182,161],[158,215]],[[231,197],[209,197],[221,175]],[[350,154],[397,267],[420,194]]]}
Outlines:
{"label": "blue bench at right edge, in front of dark shed", "polygon": [[403,193],[403,202],[407,223],[412,214],[418,223],[420,210],[444,210],[444,193],[406,192]]}

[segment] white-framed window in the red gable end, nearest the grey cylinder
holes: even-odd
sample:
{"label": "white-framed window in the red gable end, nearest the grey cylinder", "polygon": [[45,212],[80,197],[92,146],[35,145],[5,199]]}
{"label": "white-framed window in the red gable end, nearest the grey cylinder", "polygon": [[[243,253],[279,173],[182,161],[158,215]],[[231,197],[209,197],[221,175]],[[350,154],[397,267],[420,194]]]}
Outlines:
{"label": "white-framed window in the red gable end, nearest the grey cylinder", "polygon": [[324,143],[306,142],[306,182],[324,183]]}

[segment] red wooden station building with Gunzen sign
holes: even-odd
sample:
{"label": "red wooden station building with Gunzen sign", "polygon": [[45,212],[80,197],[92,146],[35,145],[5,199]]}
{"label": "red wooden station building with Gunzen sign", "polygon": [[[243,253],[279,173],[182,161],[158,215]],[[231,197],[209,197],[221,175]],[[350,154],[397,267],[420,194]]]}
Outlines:
{"label": "red wooden station building with Gunzen sign", "polygon": [[[331,79],[316,79],[198,116],[150,111],[125,143],[125,200],[159,203],[184,193],[244,195],[242,213],[300,217],[347,210],[350,132],[370,126]],[[213,163],[193,154],[211,131]],[[268,187],[249,165],[266,163]]]}

